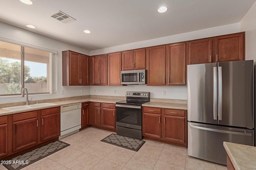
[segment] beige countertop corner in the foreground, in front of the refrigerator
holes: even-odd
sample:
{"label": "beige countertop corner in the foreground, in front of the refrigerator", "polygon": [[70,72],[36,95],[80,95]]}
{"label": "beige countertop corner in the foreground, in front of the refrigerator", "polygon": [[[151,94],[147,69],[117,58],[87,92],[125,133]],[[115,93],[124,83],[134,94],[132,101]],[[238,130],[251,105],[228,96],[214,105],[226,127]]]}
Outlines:
{"label": "beige countertop corner in the foreground, in front of the refrigerator", "polygon": [[256,169],[256,147],[230,142],[223,146],[236,170]]}

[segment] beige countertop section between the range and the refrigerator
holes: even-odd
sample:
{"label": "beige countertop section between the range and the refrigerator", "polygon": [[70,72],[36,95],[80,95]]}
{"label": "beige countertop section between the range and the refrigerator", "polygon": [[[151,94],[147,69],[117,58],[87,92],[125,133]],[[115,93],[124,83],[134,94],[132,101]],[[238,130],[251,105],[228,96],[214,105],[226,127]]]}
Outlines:
{"label": "beige countertop section between the range and the refrigerator", "polygon": [[161,108],[167,108],[167,109],[182,109],[182,110],[188,109],[187,104],[167,103],[167,102],[148,102],[148,103],[142,104],[142,106],[161,107]]}

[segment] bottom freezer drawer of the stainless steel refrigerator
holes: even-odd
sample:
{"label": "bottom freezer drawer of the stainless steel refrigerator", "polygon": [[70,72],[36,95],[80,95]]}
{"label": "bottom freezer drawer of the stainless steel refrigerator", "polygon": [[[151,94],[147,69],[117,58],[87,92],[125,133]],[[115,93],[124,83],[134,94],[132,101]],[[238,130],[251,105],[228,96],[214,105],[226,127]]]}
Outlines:
{"label": "bottom freezer drawer of the stainless steel refrigerator", "polygon": [[226,164],[223,142],[254,144],[254,130],[188,122],[188,155]]}

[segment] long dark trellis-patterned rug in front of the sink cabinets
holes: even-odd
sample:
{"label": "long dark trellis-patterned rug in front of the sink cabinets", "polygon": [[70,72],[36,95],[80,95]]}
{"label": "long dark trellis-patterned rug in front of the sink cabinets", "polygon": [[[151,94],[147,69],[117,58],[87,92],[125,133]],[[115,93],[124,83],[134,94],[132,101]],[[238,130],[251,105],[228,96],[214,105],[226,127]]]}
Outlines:
{"label": "long dark trellis-patterned rug in front of the sink cabinets", "polygon": [[58,150],[68,147],[69,144],[62,141],[54,141],[37,149],[31,150],[3,162],[8,170],[20,170]]}

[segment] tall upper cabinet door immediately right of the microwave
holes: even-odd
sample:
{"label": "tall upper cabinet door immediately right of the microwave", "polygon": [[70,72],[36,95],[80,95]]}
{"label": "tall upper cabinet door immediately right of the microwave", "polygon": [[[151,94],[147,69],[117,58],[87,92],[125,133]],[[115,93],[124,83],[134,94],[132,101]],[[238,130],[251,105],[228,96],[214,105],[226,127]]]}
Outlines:
{"label": "tall upper cabinet door immediately right of the microwave", "polygon": [[165,85],[165,46],[147,48],[148,85]]}

